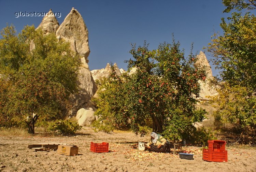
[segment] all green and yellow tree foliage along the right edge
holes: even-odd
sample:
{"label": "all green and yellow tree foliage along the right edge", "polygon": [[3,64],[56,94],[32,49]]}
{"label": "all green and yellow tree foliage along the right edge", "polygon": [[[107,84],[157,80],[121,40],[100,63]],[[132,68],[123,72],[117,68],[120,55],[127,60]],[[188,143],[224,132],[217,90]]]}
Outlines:
{"label": "all green and yellow tree foliage along the right edge", "polygon": [[[254,10],[255,0],[223,0],[229,12],[232,9]],[[208,51],[220,69],[219,95],[212,97],[217,108],[214,113],[217,127],[232,123],[245,133],[256,127],[256,17],[250,13],[234,12],[228,20],[222,18],[224,34],[214,35]]]}

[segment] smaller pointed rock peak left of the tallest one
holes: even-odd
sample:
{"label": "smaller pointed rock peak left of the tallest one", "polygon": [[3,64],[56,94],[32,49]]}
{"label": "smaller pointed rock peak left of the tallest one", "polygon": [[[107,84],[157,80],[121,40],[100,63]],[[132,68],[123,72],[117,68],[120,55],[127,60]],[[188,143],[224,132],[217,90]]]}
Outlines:
{"label": "smaller pointed rock peak left of the tallest one", "polygon": [[38,28],[42,28],[44,34],[56,33],[57,29],[59,28],[59,22],[56,19],[52,9],[50,9],[49,12],[45,14]]}

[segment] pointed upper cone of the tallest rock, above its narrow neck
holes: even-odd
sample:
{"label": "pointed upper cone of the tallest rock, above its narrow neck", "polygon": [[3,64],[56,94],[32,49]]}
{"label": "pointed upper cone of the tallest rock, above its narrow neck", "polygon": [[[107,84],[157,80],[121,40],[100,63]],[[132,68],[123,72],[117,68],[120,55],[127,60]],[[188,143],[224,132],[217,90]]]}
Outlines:
{"label": "pointed upper cone of the tallest rock, above its narrow neck", "polygon": [[[81,14],[76,9],[71,9],[56,31],[56,36],[58,39],[63,38],[69,41],[71,49],[82,56],[85,62],[88,63],[88,56],[90,54],[88,29]],[[84,63],[83,60],[82,63]]]}

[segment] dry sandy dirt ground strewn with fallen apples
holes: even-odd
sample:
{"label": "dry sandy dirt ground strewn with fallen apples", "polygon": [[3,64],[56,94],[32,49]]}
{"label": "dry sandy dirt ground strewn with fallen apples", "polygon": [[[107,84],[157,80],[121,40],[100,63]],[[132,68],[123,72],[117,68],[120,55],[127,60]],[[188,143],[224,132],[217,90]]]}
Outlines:
{"label": "dry sandy dirt ground strewn with fallen apples", "polygon": [[[0,171],[239,171],[256,172],[255,147],[226,147],[228,162],[207,162],[202,160],[200,147],[185,146],[177,149],[194,153],[194,160],[180,159],[179,155],[139,151],[136,143],[148,141],[149,135],[141,138],[132,132],[108,134],[84,128],[72,137],[2,136],[0,134]],[[109,143],[109,153],[90,152],[90,142]],[[79,155],[66,156],[57,151],[35,152],[27,148],[33,143],[69,143],[79,147]]]}

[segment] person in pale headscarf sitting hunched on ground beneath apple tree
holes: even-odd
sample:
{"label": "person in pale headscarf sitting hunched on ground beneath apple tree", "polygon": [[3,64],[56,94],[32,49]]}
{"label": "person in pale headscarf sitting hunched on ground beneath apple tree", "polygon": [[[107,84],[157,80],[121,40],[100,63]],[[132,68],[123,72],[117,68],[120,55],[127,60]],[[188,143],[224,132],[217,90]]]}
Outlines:
{"label": "person in pale headscarf sitting hunched on ground beneath apple tree", "polygon": [[170,143],[162,135],[152,132],[150,136],[151,139],[147,143],[147,148],[153,152],[171,153]]}

